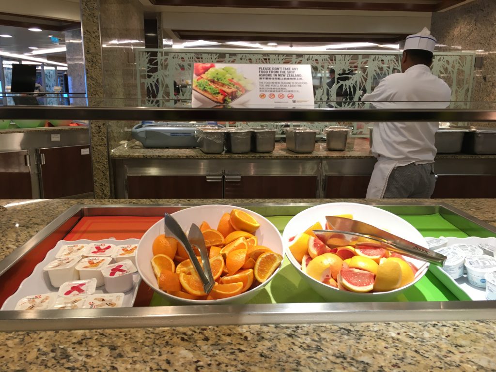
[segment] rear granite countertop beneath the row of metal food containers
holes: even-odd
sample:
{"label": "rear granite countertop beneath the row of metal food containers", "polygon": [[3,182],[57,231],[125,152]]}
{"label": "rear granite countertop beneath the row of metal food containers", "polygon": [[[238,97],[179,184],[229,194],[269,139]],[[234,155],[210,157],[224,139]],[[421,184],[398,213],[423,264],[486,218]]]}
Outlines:
{"label": "rear granite countertop beneath the row of metal food containers", "polygon": [[[329,151],[325,142],[316,142],[315,149],[309,154],[299,154],[288,150],[286,143],[276,142],[274,151],[269,153],[248,152],[245,154],[205,154],[199,148],[158,149],[143,148],[141,142],[133,139],[110,152],[110,157],[123,158],[169,158],[169,159],[360,159],[372,158],[368,138],[348,139],[346,150]],[[443,158],[495,158],[496,155],[469,155],[469,154],[439,154],[437,159]]]}

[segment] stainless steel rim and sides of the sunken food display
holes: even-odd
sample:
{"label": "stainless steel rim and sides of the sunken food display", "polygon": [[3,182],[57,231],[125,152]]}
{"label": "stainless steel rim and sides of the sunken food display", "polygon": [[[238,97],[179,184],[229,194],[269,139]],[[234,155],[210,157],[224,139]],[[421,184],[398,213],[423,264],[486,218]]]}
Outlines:
{"label": "stainless steel rim and sides of the sunken food display", "polygon": [[[317,203],[237,204],[265,216],[293,216]],[[74,205],[0,262],[0,276],[44,241],[62,240],[84,216],[162,216],[196,204]],[[496,228],[447,204],[371,205],[402,215],[439,213],[469,236],[489,237]],[[405,208],[408,207],[408,208]],[[496,301],[200,305],[101,310],[1,311],[0,330],[103,329],[222,324],[289,324],[371,321],[496,319]]]}

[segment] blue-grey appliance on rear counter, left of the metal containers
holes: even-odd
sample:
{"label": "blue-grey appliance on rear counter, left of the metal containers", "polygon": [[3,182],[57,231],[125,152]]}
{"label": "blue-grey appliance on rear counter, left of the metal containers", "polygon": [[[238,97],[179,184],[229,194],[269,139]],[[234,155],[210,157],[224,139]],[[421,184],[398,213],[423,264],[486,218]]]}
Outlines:
{"label": "blue-grey appliance on rear counter, left of the metal containers", "polygon": [[195,137],[197,124],[153,123],[134,125],[131,135],[146,148],[192,148],[198,147]]}

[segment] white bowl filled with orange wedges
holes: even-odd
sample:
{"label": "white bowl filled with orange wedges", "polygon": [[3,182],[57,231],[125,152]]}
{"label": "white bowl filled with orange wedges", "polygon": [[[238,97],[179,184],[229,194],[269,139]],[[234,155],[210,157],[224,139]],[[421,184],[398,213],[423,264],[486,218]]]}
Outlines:
{"label": "white bowl filled with orange wedges", "polygon": [[281,234],[258,213],[214,204],[185,208],[171,215],[186,235],[192,223],[200,227],[216,282],[210,293],[203,292],[185,248],[164,235],[161,219],[141,238],[136,267],[146,284],[172,304],[246,303],[281,268]]}

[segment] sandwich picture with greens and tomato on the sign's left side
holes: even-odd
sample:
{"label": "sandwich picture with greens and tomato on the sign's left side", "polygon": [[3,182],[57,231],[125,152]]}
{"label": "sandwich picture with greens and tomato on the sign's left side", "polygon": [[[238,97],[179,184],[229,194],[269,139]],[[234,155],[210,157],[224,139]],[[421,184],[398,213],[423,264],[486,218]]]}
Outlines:
{"label": "sandwich picture with greens and tomato on the sign's left side", "polygon": [[232,65],[195,63],[193,66],[193,100],[199,103],[228,105],[253,89],[253,79]]}

